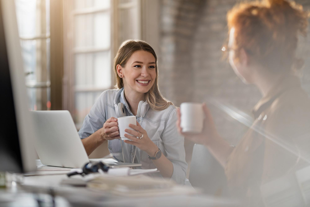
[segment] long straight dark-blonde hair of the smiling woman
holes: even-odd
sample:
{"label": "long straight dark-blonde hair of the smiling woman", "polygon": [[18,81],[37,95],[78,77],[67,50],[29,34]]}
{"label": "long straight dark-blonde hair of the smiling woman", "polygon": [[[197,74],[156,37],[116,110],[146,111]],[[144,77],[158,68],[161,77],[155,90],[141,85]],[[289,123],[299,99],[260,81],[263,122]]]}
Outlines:
{"label": "long straight dark-blonde hair of the smiling woman", "polygon": [[148,92],[145,93],[145,99],[153,110],[164,110],[169,105],[174,104],[171,101],[166,100],[162,94],[159,92],[158,88],[158,68],[157,68],[157,56],[155,54],[155,51],[153,48],[146,42],[141,40],[126,40],[124,41],[121,46],[119,47],[117,54],[114,58],[114,73],[116,75],[116,85],[115,88],[123,88],[124,83],[122,78],[120,78],[117,74],[116,66],[121,65],[124,67],[128,61],[128,59],[131,57],[131,55],[136,51],[146,51],[152,53],[152,55],[155,57],[155,70],[156,70],[156,78],[155,82],[150,88]]}

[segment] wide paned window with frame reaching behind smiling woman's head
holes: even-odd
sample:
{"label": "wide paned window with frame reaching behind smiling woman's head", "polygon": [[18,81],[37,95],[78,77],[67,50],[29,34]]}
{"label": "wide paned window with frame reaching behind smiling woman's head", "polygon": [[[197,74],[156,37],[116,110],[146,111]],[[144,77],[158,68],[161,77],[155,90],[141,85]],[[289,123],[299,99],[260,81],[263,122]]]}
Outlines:
{"label": "wide paned window with frame reaching behind smiling woman's head", "polygon": [[140,1],[64,2],[63,106],[77,128],[100,94],[113,88],[113,58],[126,39],[141,38]]}

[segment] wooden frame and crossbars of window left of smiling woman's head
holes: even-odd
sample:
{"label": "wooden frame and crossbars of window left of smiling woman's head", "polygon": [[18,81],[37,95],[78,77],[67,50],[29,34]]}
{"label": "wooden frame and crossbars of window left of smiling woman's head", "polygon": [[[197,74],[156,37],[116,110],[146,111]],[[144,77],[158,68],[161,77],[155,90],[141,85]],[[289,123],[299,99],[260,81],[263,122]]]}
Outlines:
{"label": "wooden frame and crossbars of window left of smiling woman's head", "polygon": [[[111,66],[113,65],[113,7],[115,2],[110,0],[110,8],[85,8],[85,9],[74,9],[74,0],[64,1],[64,72],[63,72],[63,97],[62,97],[62,108],[64,110],[69,110],[72,116],[74,116],[75,111],[75,94],[77,92],[100,92],[108,89],[112,89],[115,83],[113,71],[111,71],[111,86],[104,87],[87,87],[87,86],[75,86],[75,63],[74,57],[76,54],[80,53],[96,53],[96,52],[107,52],[111,53]],[[110,47],[74,47],[74,21],[75,16],[78,15],[89,15],[99,12],[109,12],[110,13]],[[112,68],[112,67],[111,67]],[[112,69],[111,69],[112,70]],[[76,123],[81,124],[81,123]]]}

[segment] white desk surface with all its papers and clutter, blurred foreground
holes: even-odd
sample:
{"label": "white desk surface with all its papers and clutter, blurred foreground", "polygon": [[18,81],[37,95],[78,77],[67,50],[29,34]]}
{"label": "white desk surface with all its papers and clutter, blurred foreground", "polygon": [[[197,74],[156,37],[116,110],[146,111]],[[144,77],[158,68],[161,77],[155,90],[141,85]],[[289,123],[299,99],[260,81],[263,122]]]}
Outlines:
{"label": "white desk surface with all its papers and clutter, blurred foreground", "polygon": [[238,206],[152,176],[157,169],[110,168],[68,177],[70,171],[82,169],[46,166],[40,160],[37,166],[32,175],[7,173],[7,190],[0,190],[0,206],[28,207],[26,202],[33,203],[30,206],[39,202],[42,206]]}

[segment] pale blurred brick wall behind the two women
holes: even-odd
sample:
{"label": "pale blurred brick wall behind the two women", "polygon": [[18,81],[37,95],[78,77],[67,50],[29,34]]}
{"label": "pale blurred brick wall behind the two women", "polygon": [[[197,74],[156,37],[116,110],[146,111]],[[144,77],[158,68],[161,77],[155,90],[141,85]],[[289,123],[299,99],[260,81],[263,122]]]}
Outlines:
{"label": "pale blurred brick wall behind the two women", "polygon": [[[161,0],[160,90],[175,105],[185,101],[217,100],[250,115],[261,98],[258,89],[245,85],[222,61],[227,38],[227,11],[236,0]],[[310,9],[309,0],[297,2]],[[301,39],[300,50],[306,61],[303,87],[310,94],[310,34]],[[209,104],[220,134],[237,144],[247,128],[215,105]]]}

